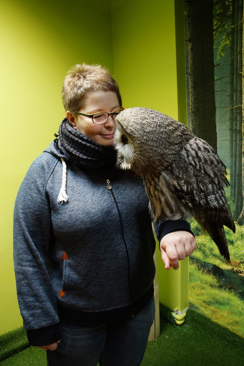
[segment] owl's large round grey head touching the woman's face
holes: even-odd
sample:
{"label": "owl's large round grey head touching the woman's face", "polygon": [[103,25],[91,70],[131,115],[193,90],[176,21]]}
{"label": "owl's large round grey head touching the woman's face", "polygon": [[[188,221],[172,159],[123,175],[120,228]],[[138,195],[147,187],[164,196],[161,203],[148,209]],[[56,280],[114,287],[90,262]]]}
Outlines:
{"label": "owl's large round grey head touching the woman's face", "polygon": [[142,177],[168,167],[192,132],[182,123],[149,108],[128,108],[115,119],[117,166]]}

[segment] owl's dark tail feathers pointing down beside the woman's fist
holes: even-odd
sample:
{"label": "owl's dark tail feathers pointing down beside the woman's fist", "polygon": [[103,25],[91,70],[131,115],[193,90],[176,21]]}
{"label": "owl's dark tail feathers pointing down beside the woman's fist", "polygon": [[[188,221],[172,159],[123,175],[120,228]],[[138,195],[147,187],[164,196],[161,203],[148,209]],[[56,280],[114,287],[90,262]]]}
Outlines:
{"label": "owl's dark tail feathers pointing down beside the woman's fist", "polygon": [[218,226],[212,220],[205,220],[204,223],[200,224],[204,231],[208,232],[210,238],[217,245],[219,253],[226,259],[226,261],[230,262],[230,254],[223,226]]}

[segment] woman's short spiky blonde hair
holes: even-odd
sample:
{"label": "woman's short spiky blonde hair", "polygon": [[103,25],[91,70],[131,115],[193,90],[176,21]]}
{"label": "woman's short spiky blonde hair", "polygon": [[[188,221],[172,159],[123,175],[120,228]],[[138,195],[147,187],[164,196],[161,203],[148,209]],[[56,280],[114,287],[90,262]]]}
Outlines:
{"label": "woman's short spiky blonde hair", "polygon": [[91,90],[114,91],[122,107],[119,85],[109,70],[100,65],[83,63],[72,67],[64,79],[61,93],[64,109],[71,113],[79,111],[84,107],[85,93]]}

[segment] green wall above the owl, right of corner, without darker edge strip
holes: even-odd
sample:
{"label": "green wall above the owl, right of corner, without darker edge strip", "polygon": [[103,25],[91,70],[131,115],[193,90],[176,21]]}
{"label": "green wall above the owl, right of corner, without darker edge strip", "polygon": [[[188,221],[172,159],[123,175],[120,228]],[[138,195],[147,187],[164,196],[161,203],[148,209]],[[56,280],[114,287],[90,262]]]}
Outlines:
{"label": "green wall above the owl, right of corner, without darker edge strip", "polygon": [[174,1],[122,1],[112,10],[112,32],[124,107],[152,108],[177,119]]}

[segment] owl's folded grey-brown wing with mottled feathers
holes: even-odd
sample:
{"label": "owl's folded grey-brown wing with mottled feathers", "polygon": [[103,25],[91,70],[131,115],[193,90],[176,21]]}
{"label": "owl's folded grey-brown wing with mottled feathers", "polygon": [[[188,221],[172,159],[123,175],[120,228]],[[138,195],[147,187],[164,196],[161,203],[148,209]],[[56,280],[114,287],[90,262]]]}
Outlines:
{"label": "owl's folded grey-brown wing with mottled feathers", "polygon": [[207,216],[218,225],[226,225],[234,231],[223,188],[229,185],[225,169],[212,147],[195,137],[166,170],[173,178],[175,193],[184,205],[193,209],[197,221],[206,220]]}

